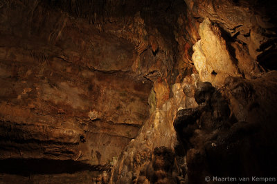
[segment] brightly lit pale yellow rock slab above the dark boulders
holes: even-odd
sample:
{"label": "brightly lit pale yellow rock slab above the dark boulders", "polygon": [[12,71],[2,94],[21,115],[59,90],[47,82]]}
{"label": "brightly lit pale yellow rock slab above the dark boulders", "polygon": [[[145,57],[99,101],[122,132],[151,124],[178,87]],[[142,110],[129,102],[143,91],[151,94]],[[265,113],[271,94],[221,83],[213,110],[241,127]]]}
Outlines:
{"label": "brightly lit pale yellow rock slab above the dark boulders", "polygon": [[235,61],[226,48],[220,29],[205,19],[199,25],[201,40],[195,43],[193,63],[201,81],[222,84],[226,76],[239,76]]}

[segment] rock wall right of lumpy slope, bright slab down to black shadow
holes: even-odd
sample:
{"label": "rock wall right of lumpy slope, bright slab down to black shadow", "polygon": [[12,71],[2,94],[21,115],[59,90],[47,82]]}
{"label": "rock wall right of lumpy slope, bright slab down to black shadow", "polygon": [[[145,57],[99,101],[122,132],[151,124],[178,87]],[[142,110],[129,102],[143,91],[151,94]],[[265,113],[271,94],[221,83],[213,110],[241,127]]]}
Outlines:
{"label": "rock wall right of lumpy slope, bright slab down to black shadow", "polygon": [[198,107],[178,111],[174,123],[188,182],[274,177],[276,3],[186,3],[199,21],[192,60],[205,82],[195,89]]}

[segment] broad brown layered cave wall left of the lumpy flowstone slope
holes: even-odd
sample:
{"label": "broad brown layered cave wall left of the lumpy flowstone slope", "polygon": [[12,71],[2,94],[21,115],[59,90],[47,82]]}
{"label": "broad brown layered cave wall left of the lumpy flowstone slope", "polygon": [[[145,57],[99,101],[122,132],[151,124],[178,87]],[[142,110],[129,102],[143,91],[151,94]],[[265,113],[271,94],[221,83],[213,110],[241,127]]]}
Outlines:
{"label": "broad brown layered cave wall left of the lumpy flowstone slope", "polygon": [[[173,32],[168,34],[175,25],[168,22],[175,19],[170,6],[179,2],[164,1],[161,10],[148,1],[129,1],[125,8],[122,2],[86,3],[1,2],[4,183],[28,183],[40,178],[37,174],[66,182],[75,172],[89,170],[93,178],[93,171],[109,170],[159,101],[170,96],[168,81],[178,72],[177,43]],[[46,167],[47,162],[52,164]],[[86,180],[89,174],[80,176]],[[51,182],[46,178],[41,181]]]}

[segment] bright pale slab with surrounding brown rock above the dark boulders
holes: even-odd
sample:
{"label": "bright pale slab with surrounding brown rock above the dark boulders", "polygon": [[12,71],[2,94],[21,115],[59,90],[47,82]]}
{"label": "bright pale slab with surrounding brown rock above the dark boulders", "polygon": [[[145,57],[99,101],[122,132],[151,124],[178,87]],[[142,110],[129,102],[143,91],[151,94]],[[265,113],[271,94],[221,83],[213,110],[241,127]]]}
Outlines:
{"label": "bright pale slab with surrounding brown rock above the dark boulders", "polygon": [[261,71],[275,70],[271,56],[276,50],[273,29],[276,14],[265,10],[276,8],[276,3],[220,0],[186,3],[195,17],[204,19],[199,24],[201,40],[193,47],[193,62],[202,81],[220,86],[227,76],[251,79]]}

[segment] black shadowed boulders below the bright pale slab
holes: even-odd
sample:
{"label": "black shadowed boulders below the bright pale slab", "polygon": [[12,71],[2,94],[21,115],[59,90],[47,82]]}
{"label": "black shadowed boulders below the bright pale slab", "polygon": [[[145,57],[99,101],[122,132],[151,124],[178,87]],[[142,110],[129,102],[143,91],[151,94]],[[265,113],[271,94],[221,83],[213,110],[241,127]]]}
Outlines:
{"label": "black shadowed boulders below the bright pale slab", "polygon": [[[174,123],[186,152],[190,183],[206,183],[206,176],[274,176],[276,98],[273,91],[263,90],[268,87],[262,81],[272,80],[275,89],[276,74],[251,81],[230,77],[225,85],[229,102],[211,83],[197,85],[199,106],[180,110]],[[274,97],[267,101],[267,95]]]}

